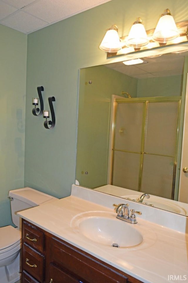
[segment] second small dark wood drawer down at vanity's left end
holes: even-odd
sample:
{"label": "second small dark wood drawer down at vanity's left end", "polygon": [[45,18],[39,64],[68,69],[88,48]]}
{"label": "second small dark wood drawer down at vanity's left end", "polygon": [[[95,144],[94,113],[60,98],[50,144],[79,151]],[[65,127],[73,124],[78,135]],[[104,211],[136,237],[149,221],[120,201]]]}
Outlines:
{"label": "second small dark wood drawer down at vanity's left end", "polygon": [[32,249],[26,243],[22,246],[22,268],[38,281],[43,282],[44,256]]}

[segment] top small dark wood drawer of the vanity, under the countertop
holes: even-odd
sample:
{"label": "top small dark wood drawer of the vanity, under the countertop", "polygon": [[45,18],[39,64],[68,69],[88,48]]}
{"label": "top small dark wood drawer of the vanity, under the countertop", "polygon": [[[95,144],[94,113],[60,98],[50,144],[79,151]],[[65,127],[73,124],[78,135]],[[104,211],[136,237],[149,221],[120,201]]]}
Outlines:
{"label": "top small dark wood drawer of the vanity, under the countertop", "polygon": [[35,226],[23,221],[22,240],[38,251],[44,251],[44,233]]}

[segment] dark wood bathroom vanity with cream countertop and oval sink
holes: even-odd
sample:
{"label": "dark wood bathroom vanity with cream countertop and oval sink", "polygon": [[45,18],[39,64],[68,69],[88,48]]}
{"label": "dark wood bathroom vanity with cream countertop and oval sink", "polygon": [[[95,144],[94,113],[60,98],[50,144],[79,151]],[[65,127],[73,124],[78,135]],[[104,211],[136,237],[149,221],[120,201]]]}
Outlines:
{"label": "dark wood bathroom vanity with cream countertop and oval sink", "polygon": [[[172,275],[188,279],[187,217],[129,201],[130,209],[142,209],[142,215],[137,216],[137,224],[125,223],[116,218],[113,208],[113,203],[122,201],[73,185],[71,196],[19,212],[22,283],[165,283],[169,278],[177,282]],[[107,239],[101,241],[92,230],[101,220],[107,223],[104,229],[111,226],[109,231],[120,235],[118,248]],[[165,221],[167,227],[172,221],[179,224],[167,228]],[[142,239],[126,246],[123,240],[126,234],[128,240],[134,239],[132,232]]]}

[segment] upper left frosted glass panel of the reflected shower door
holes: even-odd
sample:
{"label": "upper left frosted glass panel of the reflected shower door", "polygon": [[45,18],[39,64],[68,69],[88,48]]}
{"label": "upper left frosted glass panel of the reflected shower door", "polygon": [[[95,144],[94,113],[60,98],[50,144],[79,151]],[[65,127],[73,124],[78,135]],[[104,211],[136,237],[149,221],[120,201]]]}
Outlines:
{"label": "upper left frosted glass panel of the reflected shower door", "polygon": [[142,120],[145,103],[117,103],[114,148],[141,151]]}

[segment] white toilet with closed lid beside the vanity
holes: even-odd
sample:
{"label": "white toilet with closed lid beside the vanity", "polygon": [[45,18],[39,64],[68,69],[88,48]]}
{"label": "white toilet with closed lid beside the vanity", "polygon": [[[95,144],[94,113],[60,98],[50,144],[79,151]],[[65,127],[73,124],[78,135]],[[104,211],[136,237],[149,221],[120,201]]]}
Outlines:
{"label": "white toilet with closed lid beside the vanity", "polygon": [[21,277],[21,219],[16,212],[57,200],[29,187],[9,191],[12,226],[0,227],[0,283],[14,283]]}

